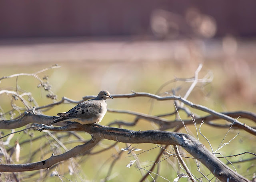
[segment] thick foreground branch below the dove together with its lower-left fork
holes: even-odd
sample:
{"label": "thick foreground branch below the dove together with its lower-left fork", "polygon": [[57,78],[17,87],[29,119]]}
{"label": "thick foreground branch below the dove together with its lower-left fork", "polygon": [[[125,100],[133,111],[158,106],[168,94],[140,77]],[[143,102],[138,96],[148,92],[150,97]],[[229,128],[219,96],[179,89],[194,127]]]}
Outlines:
{"label": "thick foreground branch below the dove together with its lower-left fork", "polygon": [[[59,131],[58,127],[44,126],[45,129]],[[97,136],[96,139],[108,139],[122,143],[155,143],[164,145],[180,145],[188,151],[193,157],[200,160],[211,172],[222,181],[229,180],[230,182],[248,182],[248,180],[233,170],[228,168],[223,162],[215,157],[204,145],[199,143],[190,135],[183,133],[174,133],[169,131],[133,131],[128,129],[120,129],[114,127],[106,127],[102,125],[81,125],[79,123],[70,123],[65,128],[66,131],[85,131],[92,136]],[[60,162],[74,157],[84,151],[91,149],[98,143],[90,141],[84,145],[74,147],[72,150],[58,156],[53,156],[47,160],[34,162],[30,164],[0,164],[0,171],[27,171],[48,168]]]}

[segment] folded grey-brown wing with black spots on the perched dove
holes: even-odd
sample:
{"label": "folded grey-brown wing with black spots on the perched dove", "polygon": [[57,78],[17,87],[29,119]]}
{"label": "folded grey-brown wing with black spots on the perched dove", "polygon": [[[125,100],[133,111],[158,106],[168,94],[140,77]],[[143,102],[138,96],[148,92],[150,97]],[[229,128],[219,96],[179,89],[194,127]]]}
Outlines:
{"label": "folded grey-brown wing with black spots on the perched dove", "polygon": [[58,113],[58,116],[76,119],[91,119],[100,116],[103,110],[103,104],[99,100],[88,100],[78,104],[66,113]]}

